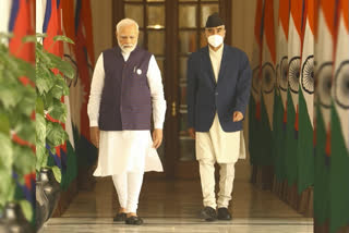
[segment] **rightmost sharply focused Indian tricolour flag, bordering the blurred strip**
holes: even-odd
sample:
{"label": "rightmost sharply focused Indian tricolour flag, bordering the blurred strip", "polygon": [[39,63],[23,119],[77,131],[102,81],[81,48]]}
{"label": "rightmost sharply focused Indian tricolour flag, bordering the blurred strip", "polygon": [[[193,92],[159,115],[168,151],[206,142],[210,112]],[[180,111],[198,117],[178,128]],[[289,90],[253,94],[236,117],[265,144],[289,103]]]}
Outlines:
{"label": "rightmost sharply focused Indian tricolour flag, bordering the blurred strip", "polygon": [[299,78],[298,192],[314,184],[314,0],[304,2],[302,59]]}

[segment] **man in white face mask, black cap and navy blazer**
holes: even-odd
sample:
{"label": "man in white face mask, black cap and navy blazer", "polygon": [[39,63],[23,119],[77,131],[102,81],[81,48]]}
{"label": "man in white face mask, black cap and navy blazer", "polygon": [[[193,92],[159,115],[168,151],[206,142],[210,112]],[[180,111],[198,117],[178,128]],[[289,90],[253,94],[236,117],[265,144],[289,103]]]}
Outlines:
{"label": "man in white face mask, black cap and navy blazer", "polygon": [[[246,54],[224,44],[225,35],[218,13],[209,15],[205,26],[208,46],[188,60],[189,134],[195,138],[204,204],[201,214],[206,221],[232,219],[228,207],[234,163],[245,156],[241,131],[252,73]],[[216,162],[220,167],[217,201]]]}

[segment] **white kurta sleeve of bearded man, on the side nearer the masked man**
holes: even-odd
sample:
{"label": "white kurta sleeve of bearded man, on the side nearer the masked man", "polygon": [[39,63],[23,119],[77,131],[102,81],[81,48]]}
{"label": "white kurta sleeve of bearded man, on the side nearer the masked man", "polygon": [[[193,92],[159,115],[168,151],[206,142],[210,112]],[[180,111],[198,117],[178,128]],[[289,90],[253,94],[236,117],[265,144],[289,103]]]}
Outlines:
{"label": "white kurta sleeve of bearded man, on the side nearer the masked man", "polygon": [[163,128],[166,113],[166,100],[164,97],[161,72],[156,63],[154,56],[152,56],[151,58],[146,76],[152,96],[154,127]]}

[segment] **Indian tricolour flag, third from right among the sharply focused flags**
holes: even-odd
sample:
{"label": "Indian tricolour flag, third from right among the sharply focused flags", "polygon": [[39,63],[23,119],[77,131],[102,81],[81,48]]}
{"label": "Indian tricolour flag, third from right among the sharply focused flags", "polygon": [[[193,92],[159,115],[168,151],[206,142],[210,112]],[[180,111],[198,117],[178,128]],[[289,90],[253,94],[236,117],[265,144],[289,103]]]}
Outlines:
{"label": "Indian tricolour flag, third from right among the sharply focused flags", "polygon": [[288,27],[290,1],[279,0],[279,17],[277,32],[276,95],[274,102],[273,133],[275,145],[275,174],[281,182],[286,179],[286,115],[288,89]]}

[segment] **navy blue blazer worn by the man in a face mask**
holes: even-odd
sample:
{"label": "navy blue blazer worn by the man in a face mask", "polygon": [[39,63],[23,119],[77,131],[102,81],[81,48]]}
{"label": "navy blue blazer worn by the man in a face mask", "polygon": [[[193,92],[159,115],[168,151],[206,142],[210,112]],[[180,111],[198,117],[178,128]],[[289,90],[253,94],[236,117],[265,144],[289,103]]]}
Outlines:
{"label": "navy blue blazer worn by the man in a face mask", "polygon": [[193,52],[188,59],[186,78],[189,127],[197,132],[209,131],[218,112],[225,132],[242,130],[242,121],[232,121],[234,111],[245,114],[250,98],[252,72],[249,58],[242,50],[224,45],[217,83],[208,47]]}

